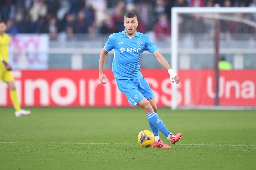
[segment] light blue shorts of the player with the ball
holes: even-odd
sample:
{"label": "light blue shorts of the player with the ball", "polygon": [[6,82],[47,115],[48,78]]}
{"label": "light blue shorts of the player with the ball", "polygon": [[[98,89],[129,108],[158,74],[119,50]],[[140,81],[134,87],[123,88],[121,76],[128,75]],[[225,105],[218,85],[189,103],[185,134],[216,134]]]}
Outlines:
{"label": "light blue shorts of the player with the ball", "polygon": [[153,91],[144,77],[138,80],[116,79],[118,89],[124,93],[128,102],[134,106],[144,97],[151,99],[154,97]]}

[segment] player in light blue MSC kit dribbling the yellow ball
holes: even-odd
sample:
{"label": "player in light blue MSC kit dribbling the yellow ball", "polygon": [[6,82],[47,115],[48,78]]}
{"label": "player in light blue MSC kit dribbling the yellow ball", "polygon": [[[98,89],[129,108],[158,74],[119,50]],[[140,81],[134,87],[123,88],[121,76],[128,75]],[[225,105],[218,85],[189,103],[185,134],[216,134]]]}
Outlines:
{"label": "player in light blue MSC kit dribbling the yellow ball", "polygon": [[113,33],[109,36],[105,47],[102,49],[99,59],[99,78],[102,84],[108,80],[103,74],[107,54],[114,49],[112,64],[113,74],[116,78],[119,90],[124,93],[131,105],[138,105],[146,114],[151,131],[154,133],[155,142],[153,147],[171,148],[159,138],[161,131],[172,144],[182,137],[181,133],[172,134],[163,124],[157,114],[157,106],[152,89],[140,72],[140,55],[147,50],[153,54],[156,60],[168,71],[170,79],[179,84],[177,74],[171,69],[165,58],[159,53],[156,45],[146,34],[136,31],[139,21],[134,12],[127,12],[124,16],[125,30]]}

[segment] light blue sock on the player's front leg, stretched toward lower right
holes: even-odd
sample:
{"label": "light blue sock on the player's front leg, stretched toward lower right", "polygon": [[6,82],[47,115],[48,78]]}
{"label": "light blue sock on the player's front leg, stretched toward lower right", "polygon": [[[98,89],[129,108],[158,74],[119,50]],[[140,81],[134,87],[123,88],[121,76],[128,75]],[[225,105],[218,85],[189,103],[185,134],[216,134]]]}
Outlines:
{"label": "light blue sock on the player's front leg, stretched toward lower right", "polygon": [[160,132],[164,134],[167,138],[168,135],[171,133],[165,126],[159,116],[153,111],[152,113],[147,114],[148,121],[153,124]]}

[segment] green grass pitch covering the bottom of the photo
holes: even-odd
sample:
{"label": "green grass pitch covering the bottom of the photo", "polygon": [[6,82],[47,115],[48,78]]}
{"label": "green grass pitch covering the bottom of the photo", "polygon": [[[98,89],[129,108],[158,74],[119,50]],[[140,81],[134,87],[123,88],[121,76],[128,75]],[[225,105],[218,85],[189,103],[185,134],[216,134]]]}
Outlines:
{"label": "green grass pitch covering the bottom of the photo", "polygon": [[[159,108],[172,133],[172,149],[143,148],[138,133],[150,130],[139,108],[26,108],[15,117],[0,108],[1,170],[255,169],[255,110]],[[170,142],[160,133],[163,142]]]}

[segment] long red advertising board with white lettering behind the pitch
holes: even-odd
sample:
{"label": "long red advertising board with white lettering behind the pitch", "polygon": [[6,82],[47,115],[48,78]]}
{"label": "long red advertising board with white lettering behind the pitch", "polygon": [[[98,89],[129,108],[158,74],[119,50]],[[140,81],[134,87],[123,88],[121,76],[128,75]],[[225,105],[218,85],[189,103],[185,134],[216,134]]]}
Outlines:
{"label": "long red advertising board with white lettering behind the pitch", "polygon": [[[171,88],[177,86],[179,106],[214,105],[213,70],[179,70],[180,84],[172,84],[163,69],[141,71],[152,88],[158,107],[170,107]],[[99,81],[98,69],[13,71],[22,106],[130,106],[116,86],[112,70],[104,70],[107,84]],[[256,106],[256,70],[220,71],[221,106]],[[0,84],[0,106],[12,106],[5,84]]]}

